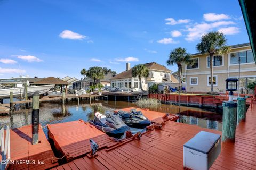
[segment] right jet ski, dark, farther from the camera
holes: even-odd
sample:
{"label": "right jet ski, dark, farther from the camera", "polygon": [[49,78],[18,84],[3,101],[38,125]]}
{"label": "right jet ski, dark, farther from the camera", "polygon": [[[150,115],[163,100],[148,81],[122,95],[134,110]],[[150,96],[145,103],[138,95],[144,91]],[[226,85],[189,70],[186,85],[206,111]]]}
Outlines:
{"label": "right jet ski, dark, farther from the camera", "polygon": [[136,109],[131,109],[130,112],[119,110],[118,114],[125,124],[133,128],[143,129],[151,124],[151,121],[141,111],[136,111]]}

